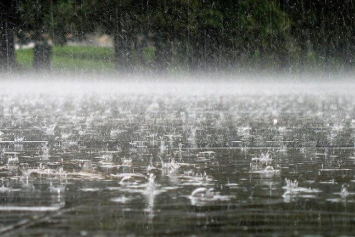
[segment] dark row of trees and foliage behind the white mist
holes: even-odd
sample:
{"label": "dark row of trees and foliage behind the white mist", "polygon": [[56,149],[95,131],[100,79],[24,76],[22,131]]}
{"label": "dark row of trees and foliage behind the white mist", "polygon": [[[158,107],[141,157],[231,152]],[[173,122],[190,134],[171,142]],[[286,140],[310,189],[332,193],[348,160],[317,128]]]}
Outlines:
{"label": "dark row of trees and foliage behind the white mist", "polygon": [[65,45],[94,32],[113,37],[120,70],[353,67],[353,0],[13,0],[0,8],[7,69],[14,36],[36,42],[35,67],[43,67],[49,40]]}

